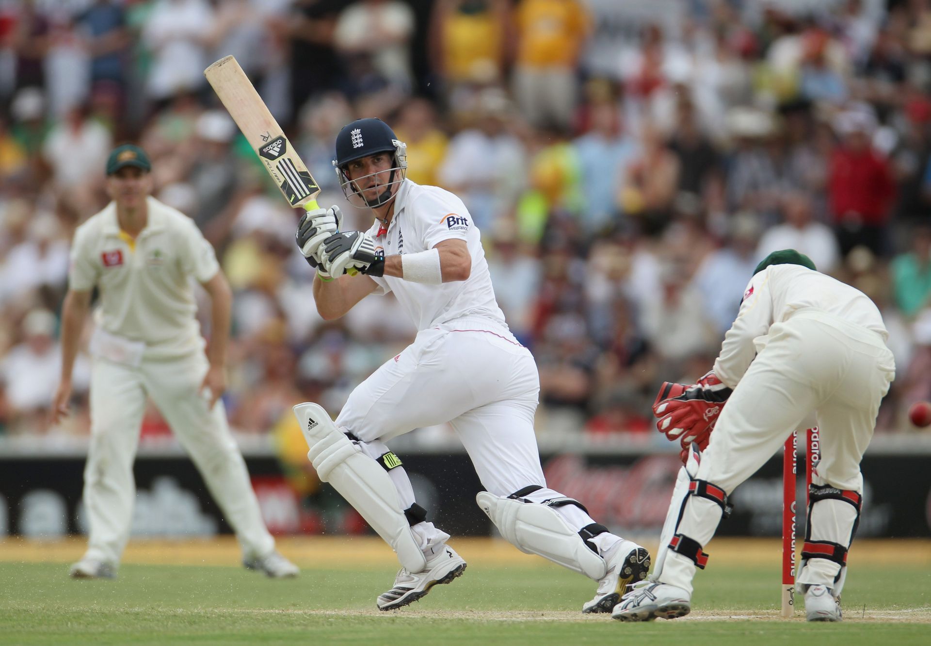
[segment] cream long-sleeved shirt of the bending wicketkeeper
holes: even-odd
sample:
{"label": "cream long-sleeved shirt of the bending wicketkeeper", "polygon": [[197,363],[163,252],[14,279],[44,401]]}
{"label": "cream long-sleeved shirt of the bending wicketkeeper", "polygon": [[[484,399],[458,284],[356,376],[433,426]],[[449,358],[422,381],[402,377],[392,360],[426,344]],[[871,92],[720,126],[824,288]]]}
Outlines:
{"label": "cream long-sleeved shirt of the bending wicketkeeper", "polygon": [[724,335],[714,374],[734,388],[768,341],[769,328],[785,323],[799,309],[815,309],[889,337],[883,315],[855,287],[801,265],[773,265],[750,279],[740,312]]}

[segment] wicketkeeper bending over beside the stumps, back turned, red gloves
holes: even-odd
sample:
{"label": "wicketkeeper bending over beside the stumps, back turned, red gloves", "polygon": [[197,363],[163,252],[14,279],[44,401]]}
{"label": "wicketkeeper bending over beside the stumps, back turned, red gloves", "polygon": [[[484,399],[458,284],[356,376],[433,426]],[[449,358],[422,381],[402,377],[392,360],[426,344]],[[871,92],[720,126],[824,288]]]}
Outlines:
{"label": "wicketkeeper bending over beside the stumps, back turned, red gloves", "polygon": [[685,466],[654,572],[621,599],[615,619],[691,611],[695,569],[708,563],[705,545],[730,511],[728,496],[814,413],[821,460],[797,584],[808,621],[841,621],[863,496],[860,460],[896,372],[887,338],[870,298],[819,273],[807,256],[789,249],[762,260],[714,369],[697,384],[664,384],[657,397],[656,425],[681,442]]}

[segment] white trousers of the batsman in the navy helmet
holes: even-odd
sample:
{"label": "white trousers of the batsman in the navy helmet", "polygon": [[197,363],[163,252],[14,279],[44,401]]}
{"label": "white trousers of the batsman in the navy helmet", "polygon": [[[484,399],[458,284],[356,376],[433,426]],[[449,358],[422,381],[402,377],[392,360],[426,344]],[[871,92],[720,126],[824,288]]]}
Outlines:
{"label": "white trousers of the batsman in the navy helmet", "polygon": [[[537,485],[545,489],[528,498],[545,500],[562,494],[546,489],[540,466],[533,432],[539,391],[533,355],[509,331],[487,319],[456,319],[419,332],[359,384],[336,426],[377,458],[392,437],[450,422],[489,492],[508,496]],[[409,506],[410,481],[398,472],[389,474],[401,504]],[[576,529],[594,522],[573,505],[558,509]]]}

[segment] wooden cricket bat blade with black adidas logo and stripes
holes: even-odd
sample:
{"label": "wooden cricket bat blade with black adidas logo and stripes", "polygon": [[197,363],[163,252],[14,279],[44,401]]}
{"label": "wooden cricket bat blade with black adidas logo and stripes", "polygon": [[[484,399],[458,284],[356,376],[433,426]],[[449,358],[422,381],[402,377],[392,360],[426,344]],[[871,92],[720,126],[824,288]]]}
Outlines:
{"label": "wooden cricket bat blade with black adidas logo and stripes", "polygon": [[236,58],[225,56],[214,62],[204,76],[290,205],[306,211],[318,209],[320,187]]}

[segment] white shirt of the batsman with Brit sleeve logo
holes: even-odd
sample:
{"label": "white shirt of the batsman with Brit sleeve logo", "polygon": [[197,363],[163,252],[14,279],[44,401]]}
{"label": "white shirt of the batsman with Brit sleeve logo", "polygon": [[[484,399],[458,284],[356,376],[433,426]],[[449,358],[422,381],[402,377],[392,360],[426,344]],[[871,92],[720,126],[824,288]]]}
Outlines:
{"label": "white shirt of the batsman with Brit sleeve logo", "polygon": [[505,314],[494,299],[479,227],[472,222],[463,201],[447,190],[420,186],[411,180],[404,181],[395,200],[395,214],[387,230],[376,220],[368,231],[376,253],[416,254],[444,240],[463,240],[472,257],[472,270],[465,281],[439,285],[371,276],[379,286],[373,294],[394,292],[418,330],[463,317],[485,319],[506,330]]}

